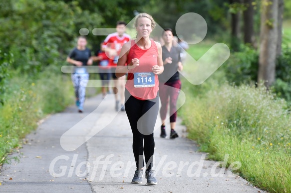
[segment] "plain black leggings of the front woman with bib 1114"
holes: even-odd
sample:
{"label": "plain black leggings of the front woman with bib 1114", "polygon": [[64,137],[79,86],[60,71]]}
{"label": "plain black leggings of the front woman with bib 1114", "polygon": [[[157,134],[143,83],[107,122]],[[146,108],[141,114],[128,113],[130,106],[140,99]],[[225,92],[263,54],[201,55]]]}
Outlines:
{"label": "plain black leggings of the front woman with bib 1114", "polygon": [[125,89],[125,101],[125,111],[133,135],[132,150],[136,168],[144,167],[144,153],[146,167],[151,169],[155,148],[153,132],[159,112],[159,95],[151,100],[139,100],[132,97]]}

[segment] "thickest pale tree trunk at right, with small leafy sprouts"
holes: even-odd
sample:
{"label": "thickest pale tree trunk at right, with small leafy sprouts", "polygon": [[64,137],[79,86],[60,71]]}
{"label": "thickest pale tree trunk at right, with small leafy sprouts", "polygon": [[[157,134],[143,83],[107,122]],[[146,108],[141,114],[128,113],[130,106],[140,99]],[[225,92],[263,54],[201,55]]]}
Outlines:
{"label": "thickest pale tree trunk at right, with small leafy sprouts", "polygon": [[262,80],[265,81],[267,88],[275,81],[278,42],[278,1],[262,0],[258,83]]}

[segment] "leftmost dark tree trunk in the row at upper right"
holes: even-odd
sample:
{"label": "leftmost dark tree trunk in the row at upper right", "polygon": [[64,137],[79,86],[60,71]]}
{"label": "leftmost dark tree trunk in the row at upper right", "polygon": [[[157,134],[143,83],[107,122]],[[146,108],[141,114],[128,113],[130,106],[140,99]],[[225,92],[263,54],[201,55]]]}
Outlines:
{"label": "leftmost dark tree trunk in the row at upper right", "polygon": [[[230,3],[241,3],[241,0],[230,0]],[[241,14],[238,11],[237,13],[232,13],[232,21],[231,21],[231,46],[234,51],[239,51],[240,46],[240,18]]]}

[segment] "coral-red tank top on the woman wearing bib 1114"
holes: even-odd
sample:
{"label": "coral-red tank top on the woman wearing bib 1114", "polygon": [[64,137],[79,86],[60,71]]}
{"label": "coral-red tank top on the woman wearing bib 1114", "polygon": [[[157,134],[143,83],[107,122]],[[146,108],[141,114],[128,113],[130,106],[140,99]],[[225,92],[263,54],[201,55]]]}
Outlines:
{"label": "coral-red tank top on the woman wearing bib 1114", "polygon": [[[127,55],[126,64],[130,64],[132,59],[137,58],[139,59],[139,66],[128,71],[125,88],[131,96],[140,100],[153,99],[157,97],[159,91],[158,75],[152,73],[152,67],[158,65],[158,48],[153,40],[151,40],[151,43],[149,49],[143,50],[136,45],[134,40],[131,40],[131,48]],[[152,77],[142,76],[143,74],[151,74]],[[135,75],[136,77],[134,77]],[[144,85],[142,86],[142,84]]]}

